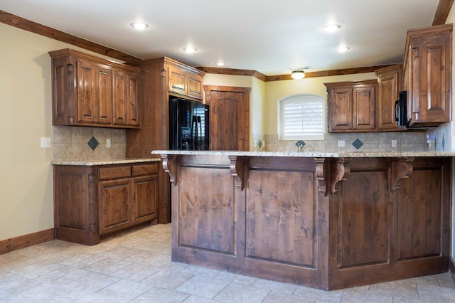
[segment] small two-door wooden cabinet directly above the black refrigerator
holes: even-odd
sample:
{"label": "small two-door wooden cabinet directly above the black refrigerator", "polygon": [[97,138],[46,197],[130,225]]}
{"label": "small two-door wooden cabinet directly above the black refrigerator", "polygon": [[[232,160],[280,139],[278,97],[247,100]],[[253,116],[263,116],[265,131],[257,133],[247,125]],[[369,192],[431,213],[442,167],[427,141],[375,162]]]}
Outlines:
{"label": "small two-door wooden cabinet directly above the black refrigerator", "polygon": [[168,90],[179,95],[203,98],[203,75],[182,65],[168,65]]}

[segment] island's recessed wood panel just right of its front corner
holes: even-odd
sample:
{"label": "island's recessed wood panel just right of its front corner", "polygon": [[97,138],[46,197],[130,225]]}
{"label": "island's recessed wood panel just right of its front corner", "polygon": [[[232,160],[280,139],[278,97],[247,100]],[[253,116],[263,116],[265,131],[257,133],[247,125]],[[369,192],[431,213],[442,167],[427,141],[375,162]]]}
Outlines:
{"label": "island's recessed wood panel just right of its front corner", "polygon": [[338,268],[388,262],[387,170],[353,171],[339,193]]}

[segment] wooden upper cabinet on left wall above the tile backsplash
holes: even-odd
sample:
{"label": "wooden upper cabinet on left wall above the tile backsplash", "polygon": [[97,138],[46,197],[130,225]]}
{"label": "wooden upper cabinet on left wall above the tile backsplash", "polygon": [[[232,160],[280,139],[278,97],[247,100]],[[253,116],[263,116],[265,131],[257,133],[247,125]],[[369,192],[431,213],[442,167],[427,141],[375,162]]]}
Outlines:
{"label": "wooden upper cabinet on left wall above the tile backsplash", "polygon": [[49,55],[53,125],[140,127],[141,70],[69,48]]}

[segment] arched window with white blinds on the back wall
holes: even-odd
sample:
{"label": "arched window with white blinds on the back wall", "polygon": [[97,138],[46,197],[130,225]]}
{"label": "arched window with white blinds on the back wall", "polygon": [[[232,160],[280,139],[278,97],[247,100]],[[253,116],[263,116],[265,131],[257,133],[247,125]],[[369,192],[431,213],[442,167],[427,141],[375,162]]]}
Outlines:
{"label": "arched window with white blinds on the back wall", "polygon": [[318,95],[299,94],[278,101],[280,140],[323,140],[324,101]]}

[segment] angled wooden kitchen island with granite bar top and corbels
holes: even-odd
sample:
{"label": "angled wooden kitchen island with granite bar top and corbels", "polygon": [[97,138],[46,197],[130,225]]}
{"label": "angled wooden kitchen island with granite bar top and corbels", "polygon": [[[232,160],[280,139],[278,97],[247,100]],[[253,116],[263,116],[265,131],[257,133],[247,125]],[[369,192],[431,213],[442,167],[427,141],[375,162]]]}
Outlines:
{"label": "angled wooden kitchen island with granite bar top and corbels", "polygon": [[173,261],[319,289],[449,270],[453,153],[152,153]]}

